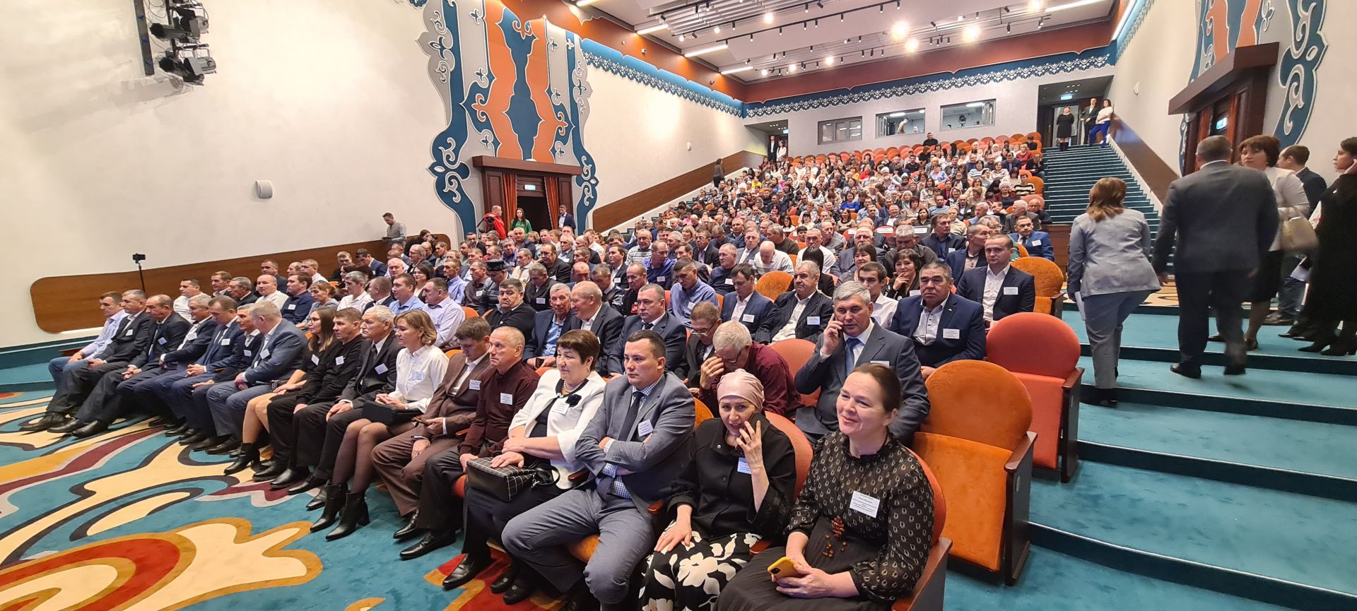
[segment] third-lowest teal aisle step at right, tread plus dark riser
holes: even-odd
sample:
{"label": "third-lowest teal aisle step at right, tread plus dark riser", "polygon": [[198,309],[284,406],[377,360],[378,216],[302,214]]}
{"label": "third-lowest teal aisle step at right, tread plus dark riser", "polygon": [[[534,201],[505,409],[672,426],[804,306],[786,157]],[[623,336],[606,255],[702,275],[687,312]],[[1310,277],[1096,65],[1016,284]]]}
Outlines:
{"label": "third-lowest teal aisle step at right, tread plus dark riser", "polygon": [[1357,427],[1137,402],[1080,405],[1079,458],[1357,499]]}

